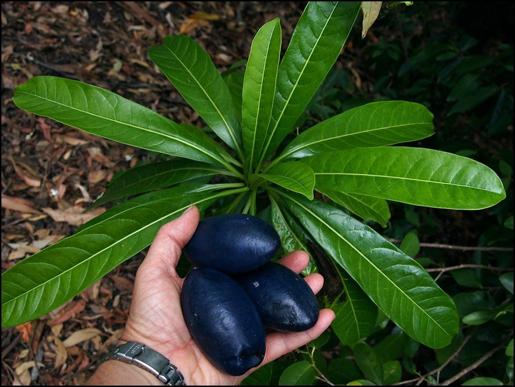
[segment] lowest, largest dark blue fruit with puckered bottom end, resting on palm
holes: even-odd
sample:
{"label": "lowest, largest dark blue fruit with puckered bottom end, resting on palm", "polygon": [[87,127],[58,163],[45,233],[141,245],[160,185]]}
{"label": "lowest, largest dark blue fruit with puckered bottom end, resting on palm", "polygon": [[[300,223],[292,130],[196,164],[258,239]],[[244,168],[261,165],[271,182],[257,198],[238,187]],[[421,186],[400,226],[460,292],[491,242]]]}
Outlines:
{"label": "lowest, largest dark blue fruit with puckered bottom end, resting on palm", "polygon": [[196,267],[181,291],[184,321],[204,355],[220,370],[243,375],[265,357],[265,327],[241,286],[218,270]]}

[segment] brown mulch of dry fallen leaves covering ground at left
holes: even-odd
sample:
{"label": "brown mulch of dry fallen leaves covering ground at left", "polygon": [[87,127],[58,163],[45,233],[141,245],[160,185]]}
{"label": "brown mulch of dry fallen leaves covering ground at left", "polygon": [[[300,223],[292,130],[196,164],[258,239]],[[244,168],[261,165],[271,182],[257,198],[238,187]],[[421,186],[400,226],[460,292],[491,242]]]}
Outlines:
{"label": "brown mulch of dry fallen leaves covering ground at left", "polygon": [[[248,56],[255,32],[274,17],[289,37],[304,5],[2,2],[2,270],[71,235],[105,210],[84,214],[114,173],[156,157],[28,114],[13,104],[14,87],[37,75],[77,79],[198,125],[148,48],[166,34],[185,33],[223,71]],[[2,385],[83,384],[121,334],[142,258],[58,310],[2,329]]]}

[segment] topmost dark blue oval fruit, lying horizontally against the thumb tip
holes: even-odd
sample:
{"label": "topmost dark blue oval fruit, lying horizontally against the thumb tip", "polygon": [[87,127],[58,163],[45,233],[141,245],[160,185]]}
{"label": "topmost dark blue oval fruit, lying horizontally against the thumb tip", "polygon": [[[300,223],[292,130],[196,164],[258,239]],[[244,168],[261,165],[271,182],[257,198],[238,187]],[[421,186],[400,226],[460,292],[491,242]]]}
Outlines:
{"label": "topmost dark blue oval fruit, lying horizontally against the thumb tip", "polygon": [[228,214],[202,219],[183,251],[194,266],[238,274],[264,265],[280,246],[279,234],[263,219]]}

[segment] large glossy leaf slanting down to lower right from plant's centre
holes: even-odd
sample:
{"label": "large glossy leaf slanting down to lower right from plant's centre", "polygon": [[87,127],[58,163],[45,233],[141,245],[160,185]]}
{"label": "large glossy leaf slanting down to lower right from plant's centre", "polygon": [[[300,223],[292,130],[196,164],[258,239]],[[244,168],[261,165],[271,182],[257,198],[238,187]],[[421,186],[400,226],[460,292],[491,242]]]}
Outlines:
{"label": "large glossy leaf slanting down to lower right from plant's centre", "polygon": [[277,192],[320,247],[407,335],[432,348],[451,342],[459,327],[456,306],[414,259],[328,203]]}

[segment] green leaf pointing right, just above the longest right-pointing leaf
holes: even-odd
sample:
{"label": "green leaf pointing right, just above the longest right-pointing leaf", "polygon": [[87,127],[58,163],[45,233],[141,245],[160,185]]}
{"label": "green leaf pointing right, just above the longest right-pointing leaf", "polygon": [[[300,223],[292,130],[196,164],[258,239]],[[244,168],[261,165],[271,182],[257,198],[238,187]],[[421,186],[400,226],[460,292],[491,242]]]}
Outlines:
{"label": "green leaf pointing right, just above the longest right-pointing leaf", "polygon": [[333,150],[406,143],[433,135],[433,128],[433,114],[421,104],[371,102],[302,132],[272,163]]}

